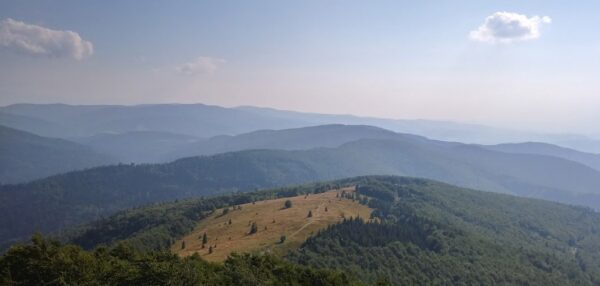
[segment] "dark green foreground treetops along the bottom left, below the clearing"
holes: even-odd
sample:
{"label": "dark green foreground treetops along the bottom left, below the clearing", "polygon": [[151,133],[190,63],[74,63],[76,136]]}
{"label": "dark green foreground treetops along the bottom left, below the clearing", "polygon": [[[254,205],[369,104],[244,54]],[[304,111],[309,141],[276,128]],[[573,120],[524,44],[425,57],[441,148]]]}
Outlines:
{"label": "dark green foreground treetops along the bottom left, below the clearing", "polygon": [[358,285],[347,275],[272,256],[232,255],[223,264],[198,256],[138,252],[127,244],[93,252],[36,235],[0,257],[1,285]]}

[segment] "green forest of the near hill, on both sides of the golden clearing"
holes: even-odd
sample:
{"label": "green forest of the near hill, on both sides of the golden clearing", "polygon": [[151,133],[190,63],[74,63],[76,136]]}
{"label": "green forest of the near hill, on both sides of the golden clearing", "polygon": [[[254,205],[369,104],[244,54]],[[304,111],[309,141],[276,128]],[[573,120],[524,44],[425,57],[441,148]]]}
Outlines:
{"label": "green forest of the near hill, on both sides of the golden clearing", "polygon": [[75,231],[71,242],[87,248],[124,242],[134,249],[160,249],[192,231],[215,208],[342,186],[357,187],[358,201],[374,209],[375,222],[347,218],[309,238],[286,260],[337,269],[367,283],[600,283],[598,213],[405,177],[358,177],[137,208]]}

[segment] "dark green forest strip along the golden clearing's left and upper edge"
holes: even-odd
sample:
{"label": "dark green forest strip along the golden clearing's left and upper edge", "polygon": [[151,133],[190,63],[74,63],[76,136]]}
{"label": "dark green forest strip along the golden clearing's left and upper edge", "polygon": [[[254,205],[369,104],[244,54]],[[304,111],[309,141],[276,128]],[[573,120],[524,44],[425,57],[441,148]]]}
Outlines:
{"label": "dark green forest strip along the golden clearing's left and upper edge", "polygon": [[205,199],[181,200],[121,211],[111,217],[58,233],[61,241],[85,249],[126,241],[138,250],[168,248],[173,241],[192,231],[198,220],[217,208],[240,205],[256,200],[293,197],[325,183],[299,187],[238,193]]}

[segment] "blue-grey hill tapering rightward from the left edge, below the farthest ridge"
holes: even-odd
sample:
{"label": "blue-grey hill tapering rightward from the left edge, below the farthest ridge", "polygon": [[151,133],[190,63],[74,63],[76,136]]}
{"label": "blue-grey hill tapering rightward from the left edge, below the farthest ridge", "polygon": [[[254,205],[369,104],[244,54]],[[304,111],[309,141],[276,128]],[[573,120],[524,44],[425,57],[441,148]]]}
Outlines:
{"label": "blue-grey hill tapering rightward from the left edge, below the farthest ridge", "polygon": [[0,184],[21,183],[114,162],[110,156],[80,144],[0,126]]}

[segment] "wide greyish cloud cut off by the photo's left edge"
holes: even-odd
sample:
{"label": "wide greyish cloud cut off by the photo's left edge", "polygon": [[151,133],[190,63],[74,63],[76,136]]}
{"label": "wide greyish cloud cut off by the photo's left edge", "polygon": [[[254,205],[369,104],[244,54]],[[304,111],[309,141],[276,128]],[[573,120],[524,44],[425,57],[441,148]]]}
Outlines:
{"label": "wide greyish cloud cut off by the photo's left edge", "polygon": [[5,19],[0,22],[0,48],[22,54],[81,60],[93,54],[92,43],[73,31],[52,30]]}

